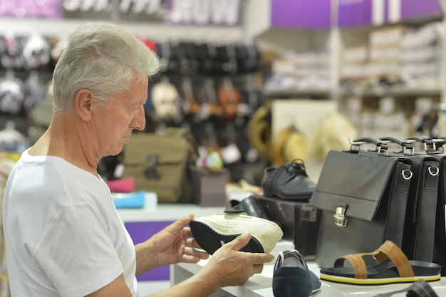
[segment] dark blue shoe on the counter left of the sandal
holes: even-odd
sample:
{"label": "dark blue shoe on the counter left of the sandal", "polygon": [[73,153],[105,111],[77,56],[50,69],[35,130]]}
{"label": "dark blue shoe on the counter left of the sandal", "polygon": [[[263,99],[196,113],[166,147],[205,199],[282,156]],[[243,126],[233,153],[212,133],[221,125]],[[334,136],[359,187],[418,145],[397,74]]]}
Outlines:
{"label": "dark blue shoe on the counter left of the sandal", "polygon": [[281,251],[274,265],[275,297],[309,297],[321,289],[318,276],[308,269],[299,251]]}

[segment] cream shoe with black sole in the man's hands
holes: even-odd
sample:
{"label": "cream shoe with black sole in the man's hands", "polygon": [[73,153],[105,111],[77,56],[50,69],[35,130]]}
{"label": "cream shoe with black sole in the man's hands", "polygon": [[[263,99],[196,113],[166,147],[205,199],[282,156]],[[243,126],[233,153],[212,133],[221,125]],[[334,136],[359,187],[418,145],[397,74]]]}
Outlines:
{"label": "cream shoe with black sole in the man's hands", "polygon": [[190,222],[190,230],[197,243],[209,254],[214,254],[220,246],[247,231],[251,233],[251,240],[240,251],[270,253],[284,236],[278,224],[244,212],[198,217]]}

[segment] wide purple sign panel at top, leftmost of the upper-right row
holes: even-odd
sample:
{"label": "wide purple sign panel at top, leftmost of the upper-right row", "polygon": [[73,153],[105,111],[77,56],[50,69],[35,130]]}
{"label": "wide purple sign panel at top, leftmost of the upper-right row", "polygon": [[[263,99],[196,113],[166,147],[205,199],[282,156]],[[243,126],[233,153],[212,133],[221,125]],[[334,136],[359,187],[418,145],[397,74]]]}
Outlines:
{"label": "wide purple sign panel at top, leftmost of the upper-right row", "polygon": [[330,28],[330,4],[327,0],[271,1],[273,27]]}

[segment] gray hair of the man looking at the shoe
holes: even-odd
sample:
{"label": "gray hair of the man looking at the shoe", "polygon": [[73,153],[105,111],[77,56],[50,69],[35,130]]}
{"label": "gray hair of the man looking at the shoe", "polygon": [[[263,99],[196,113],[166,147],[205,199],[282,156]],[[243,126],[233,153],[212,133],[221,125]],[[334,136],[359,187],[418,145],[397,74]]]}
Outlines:
{"label": "gray hair of the man looking at the shoe", "polygon": [[53,111],[73,110],[76,93],[88,89],[98,104],[130,88],[135,78],[160,69],[153,51],[132,33],[108,22],[85,23],[73,33],[53,72]]}

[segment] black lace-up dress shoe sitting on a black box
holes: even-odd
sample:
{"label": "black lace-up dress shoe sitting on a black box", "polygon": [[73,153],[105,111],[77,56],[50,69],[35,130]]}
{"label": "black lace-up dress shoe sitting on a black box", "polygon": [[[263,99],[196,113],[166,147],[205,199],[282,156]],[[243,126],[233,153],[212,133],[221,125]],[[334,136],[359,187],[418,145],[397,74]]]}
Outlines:
{"label": "black lace-up dress shoe sitting on a black box", "polygon": [[296,159],[279,167],[266,167],[261,182],[264,197],[308,200],[316,188],[305,171],[304,161]]}

